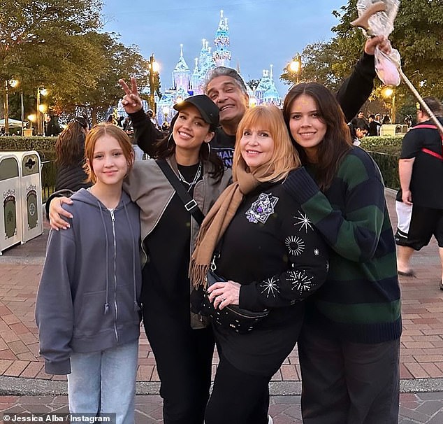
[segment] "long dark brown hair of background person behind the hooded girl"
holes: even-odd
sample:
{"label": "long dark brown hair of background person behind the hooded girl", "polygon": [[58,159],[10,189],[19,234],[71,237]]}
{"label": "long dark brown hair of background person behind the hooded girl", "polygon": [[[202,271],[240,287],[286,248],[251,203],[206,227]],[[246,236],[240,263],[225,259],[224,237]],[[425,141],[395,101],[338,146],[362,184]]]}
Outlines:
{"label": "long dark brown hair of background person behind the hooded girl", "polygon": [[59,134],[55,143],[55,162],[58,166],[75,167],[83,159],[85,150],[85,129],[89,127],[87,119],[78,116],[68,123]]}

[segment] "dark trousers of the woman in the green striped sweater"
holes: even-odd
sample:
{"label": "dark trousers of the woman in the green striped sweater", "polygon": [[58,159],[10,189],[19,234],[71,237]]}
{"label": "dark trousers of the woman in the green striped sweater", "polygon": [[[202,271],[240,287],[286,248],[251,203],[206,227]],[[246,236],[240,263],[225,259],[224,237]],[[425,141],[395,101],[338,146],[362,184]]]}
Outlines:
{"label": "dark trousers of the woman in the green striped sweater", "polygon": [[400,339],[359,344],[308,325],[298,339],[304,424],[396,424]]}

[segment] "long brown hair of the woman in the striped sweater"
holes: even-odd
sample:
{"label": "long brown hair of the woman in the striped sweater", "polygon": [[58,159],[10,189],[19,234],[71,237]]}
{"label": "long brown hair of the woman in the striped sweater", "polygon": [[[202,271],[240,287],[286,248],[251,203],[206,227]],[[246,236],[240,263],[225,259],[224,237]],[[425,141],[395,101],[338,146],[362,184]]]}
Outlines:
{"label": "long brown hair of the woman in the striped sweater", "polygon": [[[335,96],[319,83],[301,83],[289,90],[284,98],[283,116],[289,134],[289,120],[293,101],[302,94],[312,97],[319,111],[320,119],[326,124],[326,134],[317,150],[317,163],[313,164],[319,188],[325,191],[331,185],[338,166],[344,155],[351,150],[352,141],[349,127]],[[291,134],[291,139],[300,154],[302,164],[308,164],[305,150],[298,145]]]}

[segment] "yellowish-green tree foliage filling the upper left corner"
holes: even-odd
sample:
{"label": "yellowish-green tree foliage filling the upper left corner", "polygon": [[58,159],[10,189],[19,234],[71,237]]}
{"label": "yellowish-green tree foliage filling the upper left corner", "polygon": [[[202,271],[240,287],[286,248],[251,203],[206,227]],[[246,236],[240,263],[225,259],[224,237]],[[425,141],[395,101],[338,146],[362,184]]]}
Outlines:
{"label": "yellowish-green tree foliage filling the upper left corner", "polygon": [[[147,65],[136,46],[101,33],[102,0],[6,0],[0,8],[0,80],[20,80],[35,111],[37,87],[56,112],[85,106],[96,114],[122,97],[119,78],[147,87]],[[159,85],[158,85],[159,86]],[[25,102],[26,103],[26,102]],[[17,116],[15,99],[11,116]],[[25,105],[26,106],[26,105]]]}

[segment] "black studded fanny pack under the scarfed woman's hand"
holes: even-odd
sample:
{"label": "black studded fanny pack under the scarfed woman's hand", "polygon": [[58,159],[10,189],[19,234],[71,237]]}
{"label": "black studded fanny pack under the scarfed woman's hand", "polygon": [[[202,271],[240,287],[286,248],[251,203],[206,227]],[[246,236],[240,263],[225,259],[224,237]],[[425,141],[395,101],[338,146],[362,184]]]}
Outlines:
{"label": "black studded fanny pack under the scarfed woman's hand", "polygon": [[[207,288],[217,282],[225,282],[226,278],[217,276],[214,271],[208,271],[206,274]],[[210,316],[216,325],[229,328],[238,333],[247,333],[254,330],[254,327],[263,318],[268,316],[268,309],[264,311],[249,311],[249,309],[242,309],[237,305],[228,305],[224,309],[215,309],[208,297],[208,292],[203,296],[203,304],[201,306],[201,314],[203,316]]]}

